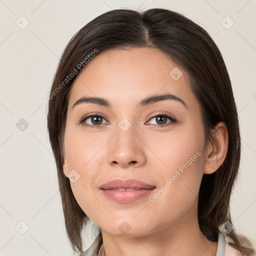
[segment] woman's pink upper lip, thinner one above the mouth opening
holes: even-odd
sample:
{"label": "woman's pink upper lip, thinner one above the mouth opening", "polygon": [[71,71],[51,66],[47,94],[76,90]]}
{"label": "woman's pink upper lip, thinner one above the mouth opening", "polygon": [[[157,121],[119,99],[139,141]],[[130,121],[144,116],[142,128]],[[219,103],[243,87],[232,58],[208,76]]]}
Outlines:
{"label": "woman's pink upper lip, thinner one above the mouth opening", "polygon": [[112,179],[99,186],[100,189],[112,189],[112,188],[154,188],[154,185],[147,184],[137,179]]}

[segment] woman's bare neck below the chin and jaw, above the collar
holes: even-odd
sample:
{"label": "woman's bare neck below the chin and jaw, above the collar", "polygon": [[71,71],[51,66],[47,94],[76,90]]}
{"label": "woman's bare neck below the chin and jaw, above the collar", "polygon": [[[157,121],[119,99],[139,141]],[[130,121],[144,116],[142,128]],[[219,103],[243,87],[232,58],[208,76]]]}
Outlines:
{"label": "woman's bare neck below the chin and jaw, above the collar", "polygon": [[132,233],[129,236],[115,236],[101,230],[103,252],[105,256],[215,256],[217,242],[209,241],[202,234],[197,212],[192,215],[188,213],[186,216],[173,221],[175,223],[165,226],[164,229],[143,236]]}

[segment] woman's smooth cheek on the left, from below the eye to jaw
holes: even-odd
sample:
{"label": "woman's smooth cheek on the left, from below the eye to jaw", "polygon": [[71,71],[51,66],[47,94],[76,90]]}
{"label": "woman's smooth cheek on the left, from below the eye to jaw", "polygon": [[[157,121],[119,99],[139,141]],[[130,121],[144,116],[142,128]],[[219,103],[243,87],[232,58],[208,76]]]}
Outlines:
{"label": "woman's smooth cheek on the left, from below the eye to jaw", "polygon": [[70,186],[81,209],[93,220],[99,205],[94,196],[95,187],[92,186],[99,175],[99,162],[103,159],[100,149],[105,140],[74,131],[75,127],[67,124],[64,137],[67,167],[76,177],[75,182],[70,181]]}

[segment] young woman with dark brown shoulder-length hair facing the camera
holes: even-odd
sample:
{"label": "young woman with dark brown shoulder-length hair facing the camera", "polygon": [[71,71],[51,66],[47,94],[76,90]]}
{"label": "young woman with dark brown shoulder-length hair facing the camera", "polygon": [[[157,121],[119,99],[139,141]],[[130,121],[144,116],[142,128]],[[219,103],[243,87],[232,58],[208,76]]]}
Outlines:
{"label": "young woman with dark brown shoulder-length hair facing the camera", "polygon": [[[48,132],[80,255],[254,255],[232,225],[237,110],[208,33],[161,8],[108,11],[67,44]],[[83,251],[92,220],[100,233]]]}

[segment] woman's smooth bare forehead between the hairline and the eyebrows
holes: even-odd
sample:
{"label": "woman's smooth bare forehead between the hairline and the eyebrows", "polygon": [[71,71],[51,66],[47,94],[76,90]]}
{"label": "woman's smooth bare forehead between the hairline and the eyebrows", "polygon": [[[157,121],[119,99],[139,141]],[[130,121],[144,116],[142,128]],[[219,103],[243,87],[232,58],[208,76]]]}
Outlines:
{"label": "woman's smooth bare forehead between the hairline and the eyebrows", "polygon": [[98,96],[129,106],[148,95],[163,93],[191,98],[188,76],[182,67],[158,49],[111,49],[99,52],[79,72],[69,105],[82,96]]}

